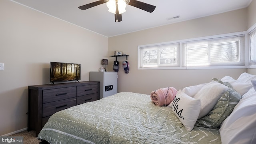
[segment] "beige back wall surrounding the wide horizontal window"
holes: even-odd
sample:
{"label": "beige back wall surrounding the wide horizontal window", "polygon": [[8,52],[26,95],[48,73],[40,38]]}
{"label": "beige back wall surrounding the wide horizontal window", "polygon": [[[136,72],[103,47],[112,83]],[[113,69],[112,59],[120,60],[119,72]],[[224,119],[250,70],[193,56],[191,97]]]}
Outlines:
{"label": "beige back wall surrounding the wide horizontal window", "polygon": [[[158,88],[172,86],[182,89],[186,86],[209,82],[213,77],[222,78],[229,75],[238,78],[246,69],[216,69],[216,70],[137,70],[137,46],[241,32],[247,30],[247,8],[225,12],[204,18],[188,20],[157,28],[151,28],[120,36],[108,40],[108,54],[114,50],[130,55],[130,73],[125,74],[122,65],[118,72],[118,92],[138,92],[150,94]],[[111,69],[115,58],[110,58],[108,68]],[[121,63],[125,57],[118,57]]]}

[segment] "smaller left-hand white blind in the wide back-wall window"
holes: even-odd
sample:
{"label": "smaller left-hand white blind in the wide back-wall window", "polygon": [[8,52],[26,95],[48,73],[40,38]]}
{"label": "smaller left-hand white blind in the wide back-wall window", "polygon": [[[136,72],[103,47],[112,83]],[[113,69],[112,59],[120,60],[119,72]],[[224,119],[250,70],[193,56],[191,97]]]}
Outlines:
{"label": "smaller left-hand white blind in the wide back-wall window", "polygon": [[179,66],[179,48],[179,43],[139,47],[139,68]]}

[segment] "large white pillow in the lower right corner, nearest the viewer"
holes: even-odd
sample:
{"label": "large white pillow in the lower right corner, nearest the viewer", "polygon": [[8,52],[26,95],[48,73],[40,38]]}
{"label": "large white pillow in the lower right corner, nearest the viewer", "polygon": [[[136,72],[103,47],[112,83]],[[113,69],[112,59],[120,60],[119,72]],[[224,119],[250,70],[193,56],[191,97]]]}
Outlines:
{"label": "large white pillow in the lower right corner, nearest the viewer", "polygon": [[256,92],[244,94],[220,127],[222,144],[256,144]]}

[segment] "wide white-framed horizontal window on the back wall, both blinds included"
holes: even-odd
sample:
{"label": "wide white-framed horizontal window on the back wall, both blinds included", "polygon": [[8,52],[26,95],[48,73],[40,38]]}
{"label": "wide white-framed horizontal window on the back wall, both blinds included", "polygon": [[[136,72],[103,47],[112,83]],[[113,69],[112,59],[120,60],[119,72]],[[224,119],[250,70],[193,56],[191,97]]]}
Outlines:
{"label": "wide white-framed horizontal window on the back wall, both blinds included", "polygon": [[[138,70],[246,68],[245,34],[236,32],[138,46]],[[256,32],[254,33],[255,45]],[[254,57],[256,65],[256,50]]]}

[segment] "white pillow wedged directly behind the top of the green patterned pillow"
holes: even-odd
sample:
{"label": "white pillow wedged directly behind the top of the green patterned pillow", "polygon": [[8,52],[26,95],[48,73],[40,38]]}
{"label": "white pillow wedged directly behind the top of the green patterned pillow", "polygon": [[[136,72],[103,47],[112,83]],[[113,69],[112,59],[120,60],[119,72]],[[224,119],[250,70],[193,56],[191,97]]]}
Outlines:
{"label": "white pillow wedged directly behind the top of the green patterned pillow", "polygon": [[230,83],[234,88],[234,90],[236,90],[239,94],[241,94],[241,96],[244,95],[246,92],[248,92],[250,88],[252,88],[252,83],[248,84],[245,82],[241,82],[239,80],[234,80],[230,76],[224,76],[221,79],[221,81]]}

